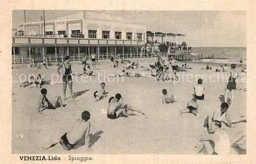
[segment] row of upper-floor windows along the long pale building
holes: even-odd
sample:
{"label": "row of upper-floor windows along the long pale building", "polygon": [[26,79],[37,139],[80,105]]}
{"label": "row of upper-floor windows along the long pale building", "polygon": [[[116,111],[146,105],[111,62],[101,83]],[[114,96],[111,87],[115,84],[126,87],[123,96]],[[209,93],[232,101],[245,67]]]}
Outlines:
{"label": "row of upper-floor windows along the long pale building", "polygon": [[[80,30],[72,30],[72,36],[78,38],[81,36]],[[53,35],[53,32],[46,32],[46,35]],[[66,31],[58,31],[58,35],[66,35]],[[97,38],[97,30],[89,30],[89,38]],[[102,39],[110,39],[110,31],[102,31]],[[115,39],[122,39],[122,32],[115,32]],[[133,33],[126,33],[126,39],[132,40]],[[142,33],[137,33],[137,40],[142,40]]]}

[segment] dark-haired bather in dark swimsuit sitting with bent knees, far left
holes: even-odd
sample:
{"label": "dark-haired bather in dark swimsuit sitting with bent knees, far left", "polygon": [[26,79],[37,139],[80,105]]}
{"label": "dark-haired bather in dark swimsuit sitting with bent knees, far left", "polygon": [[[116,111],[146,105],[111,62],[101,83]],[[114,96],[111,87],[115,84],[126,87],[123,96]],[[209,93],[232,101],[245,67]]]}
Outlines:
{"label": "dark-haired bather in dark swimsuit sitting with bent knees, far left", "polygon": [[45,109],[55,110],[57,107],[60,107],[60,106],[64,107],[60,96],[56,96],[53,102],[51,103],[46,97],[46,95],[47,95],[47,89],[45,88],[41,89],[41,96],[38,101],[38,112],[42,112]]}

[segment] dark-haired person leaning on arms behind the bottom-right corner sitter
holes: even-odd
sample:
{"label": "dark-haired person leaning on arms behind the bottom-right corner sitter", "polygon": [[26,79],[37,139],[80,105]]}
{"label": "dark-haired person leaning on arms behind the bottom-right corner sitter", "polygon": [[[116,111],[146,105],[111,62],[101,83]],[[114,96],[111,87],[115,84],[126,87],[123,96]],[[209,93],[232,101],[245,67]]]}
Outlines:
{"label": "dark-haired person leaning on arms behind the bottom-right corner sitter", "polygon": [[[214,111],[214,113],[208,115],[204,120],[204,127],[207,129],[211,128],[212,121],[220,121],[223,122],[226,126],[232,127],[231,121],[229,119],[229,115],[227,114],[228,103],[223,102],[221,104],[221,108]],[[224,121],[226,118],[226,121]]]}

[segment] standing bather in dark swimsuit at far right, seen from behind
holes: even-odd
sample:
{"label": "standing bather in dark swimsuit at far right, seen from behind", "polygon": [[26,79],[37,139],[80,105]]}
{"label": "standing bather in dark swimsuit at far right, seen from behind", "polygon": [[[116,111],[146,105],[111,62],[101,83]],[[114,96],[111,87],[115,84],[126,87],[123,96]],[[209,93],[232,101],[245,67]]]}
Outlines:
{"label": "standing bather in dark swimsuit at far right, seen from behind", "polygon": [[238,85],[238,80],[236,79],[238,78],[239,74],[237,71],[234,70],[235,68],[236,68],[236,65],[231,64],[230,76],[226,83],[225,93],[224,93],[224,102],[227,102],[227,95],[230,92],[230,95],[231,95],[230,107],[233,104],[234,91],[237,90],[237,85]]}

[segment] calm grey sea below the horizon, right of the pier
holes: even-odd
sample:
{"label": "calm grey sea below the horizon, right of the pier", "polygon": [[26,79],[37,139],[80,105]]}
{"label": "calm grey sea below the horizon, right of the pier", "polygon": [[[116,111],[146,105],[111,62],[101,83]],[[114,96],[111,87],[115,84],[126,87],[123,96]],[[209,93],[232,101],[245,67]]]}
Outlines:
{"label": "calm grey sea below the horizon, right of the pier", "polygon": [[207,58],[214,54],[215,59],[228,59],[239,61],[243,57],[246,61],[246,47],[192,47],[192,53],[201,54]]}

